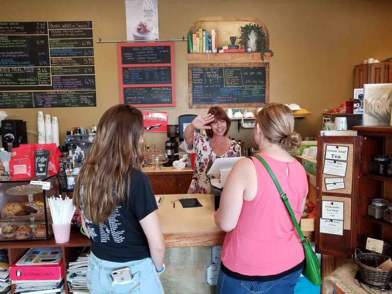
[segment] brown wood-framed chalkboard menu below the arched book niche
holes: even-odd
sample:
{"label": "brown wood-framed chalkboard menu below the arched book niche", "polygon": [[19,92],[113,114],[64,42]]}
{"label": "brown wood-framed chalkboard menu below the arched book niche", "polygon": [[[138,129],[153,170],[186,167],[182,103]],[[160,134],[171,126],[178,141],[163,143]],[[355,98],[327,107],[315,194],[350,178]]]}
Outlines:
{"label": "brown wood-framed chalkboard menu below the arched book niche", "polygon": [[189,107],[252,107],[269,102],[268,63],[188,64]]}

